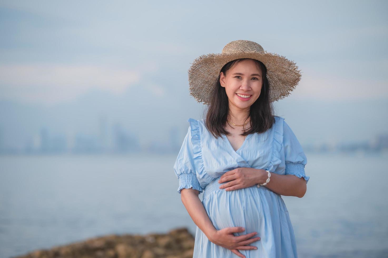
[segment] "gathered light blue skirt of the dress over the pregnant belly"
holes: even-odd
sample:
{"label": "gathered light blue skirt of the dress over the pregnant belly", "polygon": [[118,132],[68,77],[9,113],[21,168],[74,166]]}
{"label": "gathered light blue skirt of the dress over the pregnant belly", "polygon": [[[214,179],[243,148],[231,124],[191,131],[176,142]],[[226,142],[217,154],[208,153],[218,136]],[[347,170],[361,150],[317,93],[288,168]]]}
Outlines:
{"label": "gathered light blue skirt of the dress over the pregnant belly", "polygon": [[[258,232],[261,239],[249,244],[256,250],[239,250],[246,258],[296,258],[296,242],[288,210],[281,195],[257,185],[226,191],[219,189],[220,177],[206,186],[203,206],[217,230],[226,227],[244,227],[245,235]],[[227,248],[210,242],[197,227],[193,258],[236,258]]]}

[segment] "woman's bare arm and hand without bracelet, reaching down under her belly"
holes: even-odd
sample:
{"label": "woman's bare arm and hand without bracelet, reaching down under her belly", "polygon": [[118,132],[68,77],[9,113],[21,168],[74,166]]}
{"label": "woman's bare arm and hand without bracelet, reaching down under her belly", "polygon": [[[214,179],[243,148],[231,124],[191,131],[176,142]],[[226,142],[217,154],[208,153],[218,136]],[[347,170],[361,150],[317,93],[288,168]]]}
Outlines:
{"label": "woman's bare arm and hand without bracelet, reaching down under her belly", "polygon": [[182,189],[180,194],[182,203],[186,207],[186,210],[192,220],[211,242],[217,244],[218,246],[230,249],[230,251],[242,258],[245,258],[245,256],[238,250],[257,249],[256,246],[248,246],[248,244],[260,240],[260,237],[254,237],[257,235],[257,232],[235,236],[233,235],[234,232],[244,232],[245,229],[242,227],[227,227],[217,230],[213,226],[213,223],[211,222],[201,200],[198,197],[198,190]]}

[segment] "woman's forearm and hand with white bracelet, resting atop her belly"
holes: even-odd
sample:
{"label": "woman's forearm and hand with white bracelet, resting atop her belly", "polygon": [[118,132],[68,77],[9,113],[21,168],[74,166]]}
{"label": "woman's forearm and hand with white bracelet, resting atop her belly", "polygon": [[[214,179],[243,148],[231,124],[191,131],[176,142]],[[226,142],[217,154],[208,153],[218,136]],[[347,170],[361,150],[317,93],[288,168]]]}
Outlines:
{"label": "woman's forearm and hand with white bracelet, resting atop her belly", "polygon": [[[267,171],[256,168],[236,168],[222,175],[218,183],[228,182],[220,189],[237,190],[255,184],[264,184],[268,178]],[[307,190],[306,180],[295,175],[279,175],[271,173],[270,181],[265,185],[268,189],[284,196],[303,197]]]}

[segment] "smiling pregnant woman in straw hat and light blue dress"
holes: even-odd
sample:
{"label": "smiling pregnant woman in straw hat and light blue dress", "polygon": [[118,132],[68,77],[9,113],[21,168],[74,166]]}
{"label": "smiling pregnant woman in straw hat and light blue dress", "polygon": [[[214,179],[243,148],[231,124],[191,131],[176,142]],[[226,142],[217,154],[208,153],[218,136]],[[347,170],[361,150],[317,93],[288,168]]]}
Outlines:
{"label": "smiling pregnant woman in straw hat and light blue dress", "polygon": [[297,257],[281,196],[304,196],[307,158],[272,102],[300,77],[294,62],[248,40],[194,60],[190,94],[208,109],[206,119],[188,119],[174,164],[197,225],[194,258]]}

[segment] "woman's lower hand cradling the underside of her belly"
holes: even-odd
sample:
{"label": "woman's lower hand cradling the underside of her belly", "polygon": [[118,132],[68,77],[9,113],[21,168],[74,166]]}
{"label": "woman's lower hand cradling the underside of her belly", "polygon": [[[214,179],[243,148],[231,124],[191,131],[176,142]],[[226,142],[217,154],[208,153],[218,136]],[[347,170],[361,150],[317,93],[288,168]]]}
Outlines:
{"label": "woman's lower hand cradling the underside of her belly", "polygon": [[208,237],[208,239],[214,244],[217,244],[218,246],[230,249],[230,251],[232,251],[239,257],[245,258],[245,256],[242,255],[242,253],[240,253],[238,250],[257,249],[256,246],[246,245],[260,240],[260,237],[251,238],[254,235],[257,235],[257,232],[239,236],[233,235],[234,232],[244,232],[244,230],[245,229],[243,227],[227,227],[225,229],[214,231]]}

